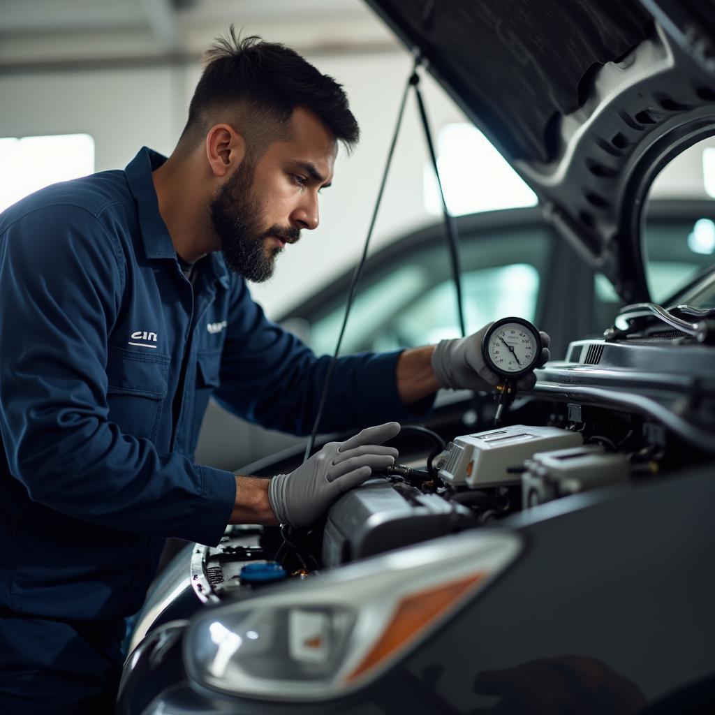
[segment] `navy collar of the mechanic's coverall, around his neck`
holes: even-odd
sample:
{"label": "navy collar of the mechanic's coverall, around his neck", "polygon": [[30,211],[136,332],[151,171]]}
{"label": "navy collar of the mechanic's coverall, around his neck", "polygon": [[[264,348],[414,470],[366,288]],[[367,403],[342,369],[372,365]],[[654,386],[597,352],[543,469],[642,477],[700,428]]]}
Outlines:
{"label": "navy collar of the mechanic's coverall, around his neck", "polygon": [[[152,171],[158,169],[167,157],[154,149],[142,147],[132,159],[124,173],[127,176],[129,190],[137,201],[139,229],[142,232],[144,252],[150,259],[176,259],[177,252],[169,235],[167,225],[159,213],[159,200],[152,182]],[[228,287],[230,276],[222,255],[213,252],[210,256],[212,278]]]}

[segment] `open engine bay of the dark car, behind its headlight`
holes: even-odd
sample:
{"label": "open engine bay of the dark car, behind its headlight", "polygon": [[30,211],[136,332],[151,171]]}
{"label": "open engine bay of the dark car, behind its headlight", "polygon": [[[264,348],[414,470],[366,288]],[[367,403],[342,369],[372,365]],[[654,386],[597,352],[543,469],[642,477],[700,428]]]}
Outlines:
{"label": "open engine bay of the dark car, behind its headlight", "polygon": [[[543,503],[676,478],[684,465],[707,463],[715,450],[702,438],[715,404],[711,382],[701,369],[676,373],[662,358],[677,353],[672,365],[695,360],[704,368],[711,350],[682,342],[574,342],[567,360],[537,371],[536,389],[516,399],[498,428],[488,397],[445,395],[430,430],[404,425],[393,440],[400,465],[343,495],[312,528],[234,526],[219,546],[197,546],[194,593],[201,601],[233,598],[431,538],[508,524],[516,514],[538,518]],[[659,373],[652,371],[653,348]],[[638,370],[642,360],[647,373]],[[255,473],[297,463],[297,453],[286,455]],[[257,576],[258,564],[270,573]]]}

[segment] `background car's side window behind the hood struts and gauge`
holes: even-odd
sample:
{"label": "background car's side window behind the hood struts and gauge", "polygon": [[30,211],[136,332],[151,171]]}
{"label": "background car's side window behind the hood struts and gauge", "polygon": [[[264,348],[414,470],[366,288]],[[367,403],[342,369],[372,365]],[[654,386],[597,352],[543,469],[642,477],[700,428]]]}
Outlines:
{"label": "background car's side window behind the hood struts and gauge", "polygon": [[[473,232],[460,237],[467,330],[518,315],[538,320],[540,288],[554,236],[543,227]],[[350,312],[341,352],[394,350],[457,337],[455,289],[443,240],[405,250],[366,269]],[[316,316],[308,342],[318,354],[335,350],[344,302]]]}

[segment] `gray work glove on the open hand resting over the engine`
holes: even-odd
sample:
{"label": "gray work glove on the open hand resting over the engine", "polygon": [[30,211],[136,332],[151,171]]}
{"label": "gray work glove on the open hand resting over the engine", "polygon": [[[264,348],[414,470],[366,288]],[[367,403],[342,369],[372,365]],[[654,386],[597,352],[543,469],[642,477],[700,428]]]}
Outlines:
{"label": "gray work glove on the open hand resting over the engine", "polygon": [[395,463],[398,450],[381,446],[400,432],[397,422],[365,428],[345,442],[329,442],[290,474],[268,485],[268,501],[278,521],[312,524],[343,492],[362,484],[373,470]]}

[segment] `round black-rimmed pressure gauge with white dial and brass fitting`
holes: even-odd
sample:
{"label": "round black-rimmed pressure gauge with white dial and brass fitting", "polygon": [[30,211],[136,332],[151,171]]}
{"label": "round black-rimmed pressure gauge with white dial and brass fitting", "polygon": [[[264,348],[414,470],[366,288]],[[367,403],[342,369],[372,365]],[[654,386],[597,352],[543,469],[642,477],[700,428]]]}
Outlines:
{"label": "round black-rimmed pressure gauge with white dial and brass fitting", "polygon": [[513,403],[518,378],[538,365],[542,347],[536,327],[521,317],[503,317],[490,325],[482,342],[482,355],[488,368],[502,378],[495,388],[495,425],[501,424],[504,411]]}

